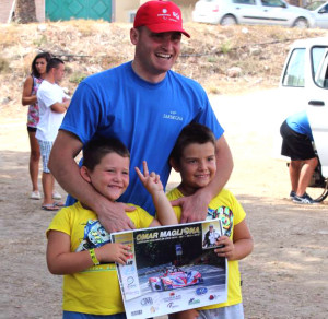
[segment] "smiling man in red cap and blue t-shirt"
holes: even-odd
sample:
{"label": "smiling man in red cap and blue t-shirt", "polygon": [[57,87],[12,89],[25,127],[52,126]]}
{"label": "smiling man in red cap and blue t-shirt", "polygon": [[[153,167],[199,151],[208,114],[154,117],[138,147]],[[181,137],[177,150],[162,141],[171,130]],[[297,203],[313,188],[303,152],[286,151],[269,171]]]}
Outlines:
{"label": "smiling man in red cap and blue t-shirt", "polygon": [[[121,214],[133,209],[110,203],[83,181],[74,157],[92,138],[120,139],[131,153],[130,185],[119,199],[133,202],[154,214],[151,198],[134,173],[145,160],[166,185],[168,156],[181,129],[191,121],[210,127],[218,146],[218,178],[192,197],[175,202],[183,206],[183,222],[203,220],[212,197],[227,181],[233,161],[223,129],[207,94],[195,81],[171,68],[180,52],[181,12],[169,1],[148,1],[136,14],[130,40],[136,46],[132,62],[85,79],[75,91],[58,138],[50,168],[58,182],[98,214],[109,232],[134,228]],[[124,217],[122,217],[124,216]]]}

